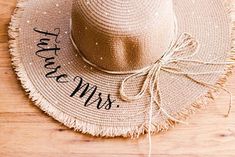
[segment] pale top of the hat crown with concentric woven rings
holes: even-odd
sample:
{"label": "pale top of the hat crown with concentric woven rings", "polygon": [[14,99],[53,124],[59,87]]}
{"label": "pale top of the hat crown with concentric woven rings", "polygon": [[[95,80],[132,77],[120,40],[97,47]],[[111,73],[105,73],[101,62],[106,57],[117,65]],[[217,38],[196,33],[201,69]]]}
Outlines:
{"label": "pale top of the hat crown with concentric woven rings", "polygon": [[[167,0],[169,3],[169,0]],[[110,35],[139,34],[166,12],[162,0],[75,0],[75,14]],[[169,6],[169,4],[167,5]]]}

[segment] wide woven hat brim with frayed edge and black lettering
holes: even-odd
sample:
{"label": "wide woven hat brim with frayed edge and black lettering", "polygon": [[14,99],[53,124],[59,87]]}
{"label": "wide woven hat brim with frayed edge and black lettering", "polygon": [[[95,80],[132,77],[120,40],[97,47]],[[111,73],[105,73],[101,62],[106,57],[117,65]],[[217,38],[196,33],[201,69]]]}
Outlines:
{"label": "wide woven hat brim with frayed edge and black lettering", "polygon": [[[231,20],[226,4],[221,0],[174,0],[178,34],[189,32],[197,38],[200,49],[196,57],[203,61],[219,58],[223,62],[231,58]],[[71,7],[72,0],[19,1],[9,35],[12,61],[22,86],[43,111],[82,133],[107,137],[144,133],[148,114],[143,111],[149,107],[149,95],[135,102],[123,101],[119,88],[127,75],[103,73],[80,58],[70,41]],[[225,65],[202,65],[188,70],[203,68],[225,70],[223,75],[195,76],[218,87],[230,71]],[[131,81],[128,94],[137,93],[143,79]],[[159,81],[162,107],[179,119],[199,108],[212,92],[184,76],[167,72],[161,72]],[[79,83],[84,88],[76,91]],[[91,90],[86,93],[88,85]],[[92,91],[94,95],[88,102]],[[153,132],[173,125],[154,107]]]}

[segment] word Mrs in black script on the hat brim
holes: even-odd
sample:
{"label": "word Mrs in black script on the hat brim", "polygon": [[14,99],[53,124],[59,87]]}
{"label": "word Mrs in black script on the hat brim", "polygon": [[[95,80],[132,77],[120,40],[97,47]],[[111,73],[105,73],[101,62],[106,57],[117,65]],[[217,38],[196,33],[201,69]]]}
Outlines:
{"label": "word Mrs in black script on the hat brim", "polygon": [[96,103],[96,107],[99,110],[102,109],[102,108],[105,108],[106,110],[111,109],[112,104],[116,100],[111,100],[111,95],[110,94],[108,94],[107,100],[103,104],[102,104],[102,102],[103,102],[102,93],[98,93],[98,98],[91,101],[92,98],[97,96],[97,95],[95,95],[96,92],[97,92],[97,86],[91,86],[90,87],[90,84],[89,83],[83,83],[83,79],[79,76],[75,77],[74,81],[77,81],[77,79],[79,79],[79,83],[78,83],[76,89],[70,95],[70,97],[74,97],[78,92],[81,92],[79,97],[83,98],[85,95],[87,95],[89,93],[90,95],[88,96],[87,100],[85,101],[84,106],[88,107],[88,106]]}

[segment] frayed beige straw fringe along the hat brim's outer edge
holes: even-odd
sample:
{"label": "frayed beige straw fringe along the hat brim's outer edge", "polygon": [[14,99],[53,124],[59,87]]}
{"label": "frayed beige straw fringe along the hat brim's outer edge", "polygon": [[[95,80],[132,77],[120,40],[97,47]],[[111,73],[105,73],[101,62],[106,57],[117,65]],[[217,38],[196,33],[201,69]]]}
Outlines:
{"label": "frayed beige straw fringe along the hat brim's outer edge", "polygon": [[[228,52],[228,61],[235,61],[235,4],[234,0],[223,0],[223,4],[227,8],[226,12],[231,18],[231,51]],[[21,62],[21,56],[18,52],[18,35],[20,31],[19,19],[21,18],[22,12],[26,6],[27,0],[18,0],[16,9],[12,15],[12,20],[9,24],[9,49],[12,55],[12,64],[14,70],[18,75],[18,79],[21,81],[22,87],[28,93],[29,98],[35,102],[35,104],[41,108],[48,115],[52,116],[54,119],[62,122],[64,125],[73,128],[75,131],[80,131],[84,134],[91,134],[93,136],[102,136],[102,137],[131,137],[138,138],[141,134],[144,134],[148,131],[148,125],[143,124],[139,127],[106,127],[98,126],[94,124],[89,124],[83,121],[80,121],[74,117],[66,115],[62,111],[53,107],[33,86],[30,81],[27,72]],[[210,90],[206,95],[201,96],[195,103],[189,108],[184,108],[177,115],[174,115],[177,119],[185,120],[189,115],[195,113],[199,109],[205,107],[206,104],[213,102],[215,95],[219,90],[225,86],[225,83],[228,77],[232,74],[232,65],[227,65],[225,69],[225,74],[221,75],[219,81],[216,83],[216,89]],[[153,133],[158,133],[161,131],[166,131],[171,127],[175,126],[175,122],[168,119],[165,121],[164,125],[154,124],[153,123]]]}

